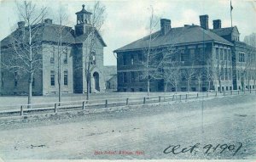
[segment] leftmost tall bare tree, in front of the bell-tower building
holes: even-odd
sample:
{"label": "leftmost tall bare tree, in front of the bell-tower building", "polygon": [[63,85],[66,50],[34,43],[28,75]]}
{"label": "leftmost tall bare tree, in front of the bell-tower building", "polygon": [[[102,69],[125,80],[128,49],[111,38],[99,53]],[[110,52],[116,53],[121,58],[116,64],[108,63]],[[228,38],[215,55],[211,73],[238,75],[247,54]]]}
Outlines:
{"label": "leftmost tall bare tree, in front of the bell-tower building", "polygon": [[4,61],[4,67],[13,71],[15,80],[19,77],[27,77],[28,79],[28,100],[32,103],[32,81],[33,76],[37,74],[37,70],[41,70],[42,65],[42,47],[39,39],[42,34],[40,22],[46,14],[46,8],[40,11],[32,1],[24,1],[16,3],[20,24],[18,30],[14,31],[10,36],[9,50],[14,53],[8,56]]}

